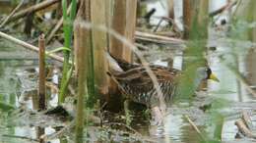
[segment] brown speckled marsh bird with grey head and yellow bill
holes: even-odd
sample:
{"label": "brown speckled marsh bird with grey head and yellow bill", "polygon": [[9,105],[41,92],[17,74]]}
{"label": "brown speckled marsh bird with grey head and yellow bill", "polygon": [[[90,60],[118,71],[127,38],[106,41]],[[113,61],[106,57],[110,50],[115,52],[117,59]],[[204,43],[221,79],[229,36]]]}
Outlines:
{"label": "brown speckled marsh bird with grey head and yellow bill", "polygon": [[[123,71],[113,71],[111,75],[114,76],[126,98],[144,104],[147,107],[157,106],[159,103],[158,93],[146,69],[142,65],[130,64],[124,60],[112,58]],[[150,68],[158,78],[164,101],[170,102],[176,92],[182,71],[156,65],[151,65]],[[194,81],[195,88],[199,86],[201,81],[206,79],[219,81],[210,68],[198,68]]]}

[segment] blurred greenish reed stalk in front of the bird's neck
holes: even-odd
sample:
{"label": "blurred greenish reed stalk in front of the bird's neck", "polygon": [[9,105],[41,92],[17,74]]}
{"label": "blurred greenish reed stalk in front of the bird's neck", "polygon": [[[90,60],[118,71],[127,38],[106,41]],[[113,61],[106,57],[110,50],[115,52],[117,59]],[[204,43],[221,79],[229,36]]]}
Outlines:
{"label": "blurred greenish reed stalk in front of the bird's neck", "polygon": [[[209,0],[184,0],[185,38],[188,38],[184,51],[185,73],[180,80],[179,94],[185,99],[191,98],[197,87],[191,84],[195,80],[196,70],[206,66],[204,53],[208,38],[208,4]],[[185,10],[185,9],[189,10]],[[193,12],[193,13],[192,13]],[[190,81],[190,82],[188,82]]]}

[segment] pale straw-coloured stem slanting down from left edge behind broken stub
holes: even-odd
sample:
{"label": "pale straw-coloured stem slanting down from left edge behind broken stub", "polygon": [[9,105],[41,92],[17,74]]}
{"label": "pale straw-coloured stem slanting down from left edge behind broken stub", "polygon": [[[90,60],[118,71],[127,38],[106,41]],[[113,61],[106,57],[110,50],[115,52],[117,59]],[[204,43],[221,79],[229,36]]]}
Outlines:
{"label": "pale straw-coloured stem slanting down from left edge behind broken stub", "polygon": [[[38,52],[39,51],[38,47],[35,47],[32,44],[29,44],[29,43],[27,43],[25,41],[17,39],[15,37],[11,36],[11,35],[8,35],[8,34],[6,34],[4,32],[1,32],[1,31],[0,31],[0,37],[3,37],[5,39],[7,39],[7,40],[10,40],[10,41],[12,41],[12,42],[14,42],[14,43],[16,43],[18,45],[21,45],[21,46],[23,46],[23,47],[25,47],[27,49],[30,49],[30,50],[34,51],[34,52]],[[45,52],[45,53],[47,53],[47,52]],[[55,55],[55,54],[49,54],[48,56],[50,58],[54,59],[54,60],[59,61],[59,62],[63,62],[64,61],[64,59],[62,57],[60,57],[58,55]]]}

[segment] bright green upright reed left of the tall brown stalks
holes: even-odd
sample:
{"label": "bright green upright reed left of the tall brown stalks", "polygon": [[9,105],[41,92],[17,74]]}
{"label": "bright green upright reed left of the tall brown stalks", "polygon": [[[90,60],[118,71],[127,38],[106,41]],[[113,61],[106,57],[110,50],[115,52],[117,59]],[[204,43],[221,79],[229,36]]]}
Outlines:
{"label": "bright green upright reed left of the tall brown stalks", "polygon": [[72,0],[71,2],[71,14],[67,13],[67,0],[62,0],[62,10],[63,10],[63,30],[64,30],[64,47],[69,50],[63,50],[64,62],[63,62],[63,71],[62,71],[62,79],[61,86],[59,92],[59,100],[58,103],[63,103],[65,100],[65,95],[67,92],[67,87],[69,83],[69,79],[72,74],[72,67],[70,67],[70,50],[71,50],[71,42],[73,36],[73,24],[76,17],[77,11],[77,1]]}

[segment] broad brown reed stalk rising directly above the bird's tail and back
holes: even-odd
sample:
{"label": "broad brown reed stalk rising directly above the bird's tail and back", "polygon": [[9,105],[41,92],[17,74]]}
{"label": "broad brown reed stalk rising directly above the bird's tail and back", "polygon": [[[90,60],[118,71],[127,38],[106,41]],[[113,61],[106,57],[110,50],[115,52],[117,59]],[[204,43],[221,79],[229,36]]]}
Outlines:
{"label": "broad brown reed stalk rising directly above the bird's tail and back", "polygon": [[[125,36],[130,42],[134,42],[134,32],[136,25],[137,1],[115,0],[112,28],[119,34]],[[132,50],[124,43],[111,37],[110,53],[127,62],[132,61]]]}

